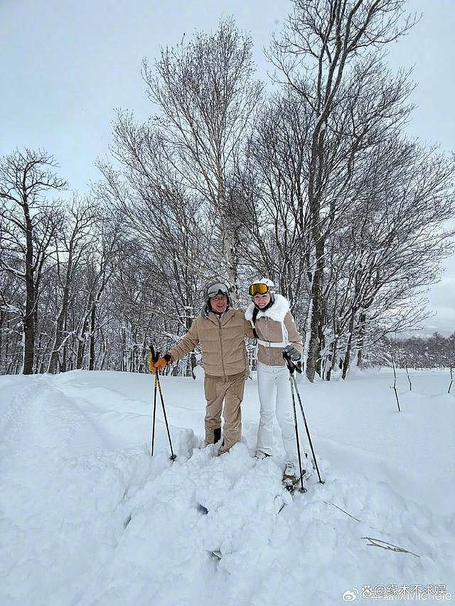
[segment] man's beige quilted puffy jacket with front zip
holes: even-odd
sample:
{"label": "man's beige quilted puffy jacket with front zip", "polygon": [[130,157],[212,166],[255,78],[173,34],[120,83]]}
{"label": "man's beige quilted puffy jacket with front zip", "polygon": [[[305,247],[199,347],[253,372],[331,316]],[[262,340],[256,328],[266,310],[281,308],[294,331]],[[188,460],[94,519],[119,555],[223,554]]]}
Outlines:
{"label": "man's beige quilted puffy jacket with front zip", "polygon": [[210,312],[207,318],[199,315],[181,342],[169,352],[174,362],[193,351],[200,344],[205,374],[210,377],[232,377],[247,372],[247,351],[244,337],[254,338],[245,312],[228,309],[218,320]]}

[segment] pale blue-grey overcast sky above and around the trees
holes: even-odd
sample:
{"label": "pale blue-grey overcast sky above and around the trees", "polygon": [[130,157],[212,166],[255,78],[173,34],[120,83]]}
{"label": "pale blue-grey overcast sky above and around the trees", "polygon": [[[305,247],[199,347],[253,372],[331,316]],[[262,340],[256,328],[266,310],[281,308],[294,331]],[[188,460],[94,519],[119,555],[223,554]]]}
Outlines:
{"label": "pale blue-grey overcast sky above and around the trees", "polygon": [[[455,0],[409,0],[422,14],[408,36],[390,45],[392,70],[414,67],[417,88],[410,136],[455,151]],[[266,81],[262,48],[291,9],[289,0],[0,0],[0,156],[16,147],[45,148],[70,188],[85,193],[106,156],[115,109],[139,119],[154,113],[141,61],[183,33],[213,31],[234,16],[252,36],[257,76]],[[455,222],[454,222],[455,224]],[[437,315],[426,331],[455,331],[455,257],[430,289]]]}

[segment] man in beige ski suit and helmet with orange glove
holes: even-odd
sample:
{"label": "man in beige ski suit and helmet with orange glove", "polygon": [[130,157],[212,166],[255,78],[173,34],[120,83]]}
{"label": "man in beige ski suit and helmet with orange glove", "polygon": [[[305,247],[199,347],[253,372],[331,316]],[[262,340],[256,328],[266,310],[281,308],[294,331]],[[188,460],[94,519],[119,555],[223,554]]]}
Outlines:
{"label": "man in beige ski suit and helmet with orange glove", "polygon": [[186,356],[200,345],[203,353],[207,400],[205,413],[205,444],[216,444],[221,438],[221,412],[224,400],[223,444],[218,454],[228,452],[242,435],[242,404],[247,378],[247,352],[245,337],[254,338],[245,312],[230,309],[229,288],[218,278],[204,288],[205,305],[202,313],[193,320],[190,330],[176,347],[156,362],[151,372]]}

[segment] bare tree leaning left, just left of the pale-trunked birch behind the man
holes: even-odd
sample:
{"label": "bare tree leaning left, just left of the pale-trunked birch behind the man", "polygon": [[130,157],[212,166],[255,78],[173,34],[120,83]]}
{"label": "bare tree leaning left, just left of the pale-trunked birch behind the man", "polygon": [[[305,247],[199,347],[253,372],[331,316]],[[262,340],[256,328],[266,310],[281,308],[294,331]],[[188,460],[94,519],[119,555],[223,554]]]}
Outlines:
{"label": "bare tree leaning left, just left of the pale-trunked birch behind the man", "polygon": [[124,239],[141,247],[158,282],[156,291],[171,302],[174,318],[186,331],[193,315],[182,309],[194,313],[195,293],[222,259],[212,247],[207,207],[186,191],[156,129],[119,116],[114,134],[112,151],[122,173],[99,163],[105,180],[97,193],[122,213]]}

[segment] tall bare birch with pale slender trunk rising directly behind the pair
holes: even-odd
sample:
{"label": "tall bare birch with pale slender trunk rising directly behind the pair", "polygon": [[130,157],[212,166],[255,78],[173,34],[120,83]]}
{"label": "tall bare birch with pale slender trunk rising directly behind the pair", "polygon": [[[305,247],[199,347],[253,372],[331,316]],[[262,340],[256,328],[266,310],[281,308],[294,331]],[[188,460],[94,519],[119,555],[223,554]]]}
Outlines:
{"label": "tall bare birch with pale slender trunk rising directly behind the pair", "polygon": [[228,222],[226,184],[240,162],[242,144],[262,85],[252,82],[252,42],[233,21],[208,36],[161,51],[155,70],[144,61],[150,99],[173,150],[171,161],[188,187],[210,201],[218,218],[232,300],[237,303],[237,251]]}

